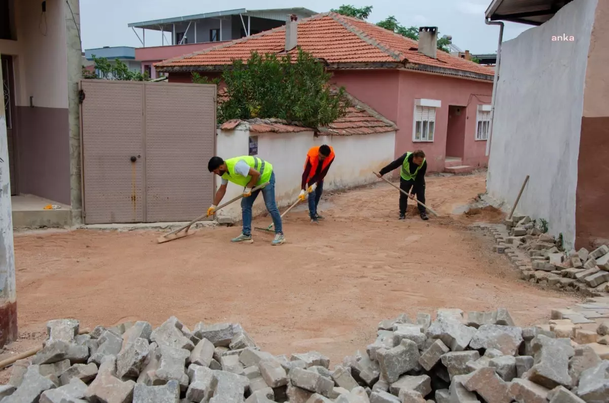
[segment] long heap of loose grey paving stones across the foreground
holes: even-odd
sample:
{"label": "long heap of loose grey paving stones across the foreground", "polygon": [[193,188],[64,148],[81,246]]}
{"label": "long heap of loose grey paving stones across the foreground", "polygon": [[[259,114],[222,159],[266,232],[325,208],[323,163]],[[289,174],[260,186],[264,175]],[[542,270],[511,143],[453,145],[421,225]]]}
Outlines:
{"label": "long heap of loose grey paving stones across the foreground", "polygon": [[[577,323],[586,312],[598,317]],[[552,318],[520,328],[505,309],[402,314],[332,370],[319,352],[261,351],[239,324],[190,331],[171,317],[78,335],[78,321],[53,320],[43,349],[0,385],[0,402],[608,402],[609,298]]]}

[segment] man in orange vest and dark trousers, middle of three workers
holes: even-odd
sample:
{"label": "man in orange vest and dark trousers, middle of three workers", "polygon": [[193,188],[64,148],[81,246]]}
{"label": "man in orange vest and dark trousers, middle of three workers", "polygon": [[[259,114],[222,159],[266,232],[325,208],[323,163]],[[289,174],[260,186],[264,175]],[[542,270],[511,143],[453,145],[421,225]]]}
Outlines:
{"label": "man in orange vest and dark trousers, middle of three workers", "polygon": [[301,182],[301,191],[298,198],[305,201],[306,194],[309,194],[309,216],[312,223],[319,223],[323,216],[317,214],[317,205],[322,198],[323,178],[326,177],[330,165],[334,161],[334,149],[329,145],[312,147],[306,154],[305,172]]}

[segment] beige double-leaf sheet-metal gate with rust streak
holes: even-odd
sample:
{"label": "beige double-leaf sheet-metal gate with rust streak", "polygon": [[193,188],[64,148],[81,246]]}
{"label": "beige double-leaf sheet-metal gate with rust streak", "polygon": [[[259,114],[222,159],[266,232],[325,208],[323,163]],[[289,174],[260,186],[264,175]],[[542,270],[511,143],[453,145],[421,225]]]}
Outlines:
{"label": "beige double-leaf sheet-metal gate with rust streak", "polygon": [[85,223],[190,221],[212,204],[216,86],[82,80]]}

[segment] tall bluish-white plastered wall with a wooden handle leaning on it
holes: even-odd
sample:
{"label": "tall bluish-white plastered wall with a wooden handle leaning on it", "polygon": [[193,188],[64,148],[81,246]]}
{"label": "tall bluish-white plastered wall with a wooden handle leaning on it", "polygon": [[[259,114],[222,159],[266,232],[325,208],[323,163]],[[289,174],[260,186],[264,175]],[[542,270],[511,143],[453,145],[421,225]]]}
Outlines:
{"label": "tall bluish-white plastered wall with a wooden handle leaning on it", "polygon": [[[550,21],[501,47],[487,191],[546,219],[549,231],[575,242],[577,158],[590,34],[597,0],[574,1]],[[552,41],[552,36],[575,41]]]}

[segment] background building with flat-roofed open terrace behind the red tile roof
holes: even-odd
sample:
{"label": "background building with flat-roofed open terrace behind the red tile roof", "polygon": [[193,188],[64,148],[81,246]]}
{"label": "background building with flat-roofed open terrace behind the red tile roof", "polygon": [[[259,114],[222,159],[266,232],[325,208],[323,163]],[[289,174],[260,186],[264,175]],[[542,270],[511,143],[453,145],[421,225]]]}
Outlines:
{"label": "background building with flat-roofed open terrace behind the red tile roof", "polygon": [[[158,76],[154,63],[280,27],[286,23],[286,14],[307,18],[315,12],[303,7],[236,9],[143,21],[128,26],[141,43],[141,47],[135,49],[135,60],[141,63],[142,72],[150,70],[150,77],[155,79]],[[150,32],[156,33],[155,41],[150,39]]]}

